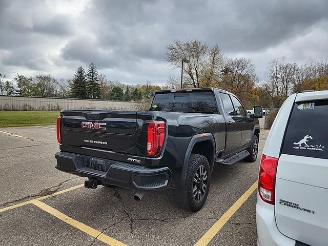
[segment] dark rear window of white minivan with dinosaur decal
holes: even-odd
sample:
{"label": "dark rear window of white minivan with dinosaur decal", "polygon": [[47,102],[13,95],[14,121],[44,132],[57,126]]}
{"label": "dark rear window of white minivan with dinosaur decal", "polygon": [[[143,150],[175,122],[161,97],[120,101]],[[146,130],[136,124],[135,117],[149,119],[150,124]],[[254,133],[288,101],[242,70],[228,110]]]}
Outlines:
{"label": "dark rear window of white minivan with dinosaur decal", "polygon": [[295,103],[282,153],[328,159],[328,100]]}

